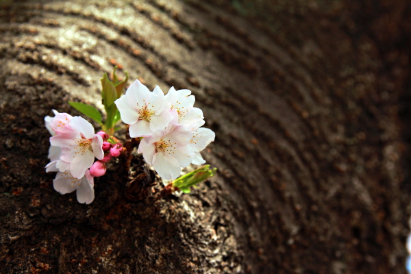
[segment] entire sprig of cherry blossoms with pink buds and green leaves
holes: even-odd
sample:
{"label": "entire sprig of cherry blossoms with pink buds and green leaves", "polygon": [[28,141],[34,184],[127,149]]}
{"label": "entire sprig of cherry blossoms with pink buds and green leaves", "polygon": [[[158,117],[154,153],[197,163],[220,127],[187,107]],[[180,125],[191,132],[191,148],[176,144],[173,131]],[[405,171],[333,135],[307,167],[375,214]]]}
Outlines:
{"label": "entire sprig of cherry blossoms with pink buds and green leaves", "polygon": [[[54,117],[46,116],[45,124],[51,134],[47,172],[57,172],[53,187],[60,194],[76,190],[79,203],[94,200],[94,178],[103,176],[106,165],[119,157],[125,147],[113,136],[123,120],[129,125],[129,136],[140,138],[138,153],[166,180],[179,177],[181,169],[190,164],[203,164],[200,151],[214,141],[215,134],[204,125],[203,112],[194,108],[195,97],[190,90],[170,88],[167,95],[156,86],[150,91],[136,80],[121,95],[127,84],[113,71],[112,80],[104,73],[101,79],[103,116],[92,105],[79,102],[69,104],[98,123],[103,131],[95,134],[92,125],[80,116],[53,110]],[[131,153],[131,151],[128,151]],[[97,160],[96,160],[97,158]],[[164,188],[164,193],[182,190],[214,176],[216,169],[201,166],[180,177]]]}

